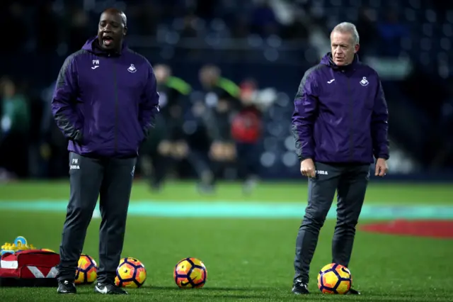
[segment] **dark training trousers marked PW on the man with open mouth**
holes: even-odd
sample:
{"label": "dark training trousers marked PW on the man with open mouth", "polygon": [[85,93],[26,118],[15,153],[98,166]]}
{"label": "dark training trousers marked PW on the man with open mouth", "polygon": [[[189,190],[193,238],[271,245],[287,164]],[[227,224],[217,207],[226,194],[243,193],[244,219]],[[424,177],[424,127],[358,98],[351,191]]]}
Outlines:
{"label": "dark training trousers marked PW on the man with open mouth", "polygon": [[99,198],[98,282],[113,282],[125,237],[137,158],[91,158],[69,153],[70,198],[60,245],[59,280],[74,280],[86,230]]}

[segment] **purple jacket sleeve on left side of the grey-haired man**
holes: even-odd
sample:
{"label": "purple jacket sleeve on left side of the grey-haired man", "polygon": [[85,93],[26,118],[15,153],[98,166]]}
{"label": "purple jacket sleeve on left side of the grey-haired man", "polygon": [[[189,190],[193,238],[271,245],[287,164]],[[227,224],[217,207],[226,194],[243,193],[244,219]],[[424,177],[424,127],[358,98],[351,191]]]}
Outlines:
{"label": "purple jacket sleeve on left side of the grey-haired man", "polygon": [[315,113],[318,108],[316,96],[316,82],[313,79],[313,70],[305,72],[294,98],[294,112],[292,114],[292,134],[296,141],[296,152],[299,160],[314,159],[313,128]]}

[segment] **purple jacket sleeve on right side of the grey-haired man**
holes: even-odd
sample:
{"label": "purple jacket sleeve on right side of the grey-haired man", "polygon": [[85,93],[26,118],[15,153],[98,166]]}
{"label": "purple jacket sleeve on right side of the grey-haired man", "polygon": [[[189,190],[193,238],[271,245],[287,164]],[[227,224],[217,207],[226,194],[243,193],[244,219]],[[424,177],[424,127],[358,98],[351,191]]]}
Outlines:
{"label": "purple jacket sleeve on right side of the grey-haired man", "polygon": [[376,159],[389,159],[389,111],[382,89],[382,83],[378,78],[376,97],[371,121],[371,134],[373,142],[373,155]]}

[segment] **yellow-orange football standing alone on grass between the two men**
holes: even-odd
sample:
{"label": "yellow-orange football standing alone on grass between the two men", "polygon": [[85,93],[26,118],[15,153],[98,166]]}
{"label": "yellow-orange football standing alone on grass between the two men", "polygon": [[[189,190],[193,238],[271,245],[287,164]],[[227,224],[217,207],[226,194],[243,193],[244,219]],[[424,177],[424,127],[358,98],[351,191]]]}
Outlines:
{"label": "yellow-orange football standing alone on grass between the two men", "polygon": [[184,258],[176,264],[173,278],[180,289],[200,289],[205,285],[207,270],[197,258]]}

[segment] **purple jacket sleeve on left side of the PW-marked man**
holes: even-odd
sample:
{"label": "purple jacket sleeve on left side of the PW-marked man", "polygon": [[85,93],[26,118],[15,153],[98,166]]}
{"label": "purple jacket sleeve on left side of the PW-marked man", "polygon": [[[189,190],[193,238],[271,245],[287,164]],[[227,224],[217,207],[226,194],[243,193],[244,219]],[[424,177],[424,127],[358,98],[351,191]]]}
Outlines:
{"label": "purple jacket sleeve on left side of the PW-marked man", "polygon": [[80,142],[83,126],[76,113],[77,75],[74,55],[64,61],[52,96],[52,115],[58,128],[70,140]]}

